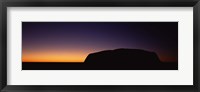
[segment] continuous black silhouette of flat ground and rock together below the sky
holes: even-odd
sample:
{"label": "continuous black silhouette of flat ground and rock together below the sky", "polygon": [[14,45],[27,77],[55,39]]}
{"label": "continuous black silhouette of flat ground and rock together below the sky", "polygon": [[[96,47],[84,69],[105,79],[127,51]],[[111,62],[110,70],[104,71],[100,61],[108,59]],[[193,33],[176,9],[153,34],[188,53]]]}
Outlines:
{"label": "continuous black silhouette of flat ground and rock together below the sky", "polygon": [[161,62],[155,52],[115,49],[91,53],[84,63],[23,63],[23,70],[178,70],[177,62]]}

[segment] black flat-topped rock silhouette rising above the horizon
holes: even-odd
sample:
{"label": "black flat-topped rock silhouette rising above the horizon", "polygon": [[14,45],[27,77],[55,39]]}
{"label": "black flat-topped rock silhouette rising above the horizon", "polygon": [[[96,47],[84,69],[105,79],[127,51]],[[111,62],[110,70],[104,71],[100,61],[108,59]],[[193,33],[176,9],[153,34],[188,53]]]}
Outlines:
{"label": "black flat-topped rock silhouette rising above the horizon", "polygon": [[136,63],[155,64],[160,60],[156,53],[139,49],[116,49],[89,54],[85,63]]}

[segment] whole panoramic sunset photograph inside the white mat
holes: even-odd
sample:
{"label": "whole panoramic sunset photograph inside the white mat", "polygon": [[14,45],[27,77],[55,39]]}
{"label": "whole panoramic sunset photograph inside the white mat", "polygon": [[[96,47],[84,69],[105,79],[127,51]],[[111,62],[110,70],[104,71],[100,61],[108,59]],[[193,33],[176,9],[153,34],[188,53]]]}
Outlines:
{"label": "whole panoramic sunset photograph inside the white mat", "polygon": [[22,22],[22,70],[178,70],[178,22]]}

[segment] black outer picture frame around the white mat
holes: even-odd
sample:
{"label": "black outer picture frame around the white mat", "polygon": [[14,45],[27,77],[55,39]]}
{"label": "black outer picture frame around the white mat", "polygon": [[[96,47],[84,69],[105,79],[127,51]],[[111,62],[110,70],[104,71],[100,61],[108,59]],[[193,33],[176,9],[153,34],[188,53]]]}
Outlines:
{"label": "black outer picture frame around the white mat", "polygon": [[[200,0],[1,0],[0,90],[1,92],[199,92]],[[193,7],[194,85],[7,85],[7,7]]]}

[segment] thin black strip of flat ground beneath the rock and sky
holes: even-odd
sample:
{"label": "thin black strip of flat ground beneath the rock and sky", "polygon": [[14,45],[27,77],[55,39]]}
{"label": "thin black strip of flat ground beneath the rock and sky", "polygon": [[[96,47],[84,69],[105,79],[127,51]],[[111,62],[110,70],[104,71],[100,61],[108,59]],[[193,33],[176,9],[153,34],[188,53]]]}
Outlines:
{"label": "thin black strip of flat ground beneath the rock and sky", "polygon": [[[131,66],[131,65],[128,65]],[[22,70],[178,70],[178,63],[162,63],[161,66],[157,67],[87,67],[85,63],[22,63]]]}

